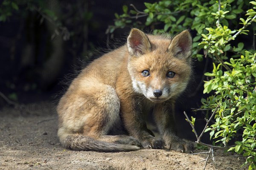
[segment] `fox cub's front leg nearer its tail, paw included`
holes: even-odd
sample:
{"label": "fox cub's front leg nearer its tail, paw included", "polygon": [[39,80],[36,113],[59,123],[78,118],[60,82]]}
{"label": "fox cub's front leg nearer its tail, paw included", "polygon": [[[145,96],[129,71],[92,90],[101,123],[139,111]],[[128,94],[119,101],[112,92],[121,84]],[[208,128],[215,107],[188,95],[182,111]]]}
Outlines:
{"label": "fox cub's front leg nearer its tail, paw included", "polygon": [[142,114],[142,107],[138,105],[135,99],[121,99],[121,117],[129,134],[138,139],[143,148],[163,148],[163,140],[157,139],[148,133]]}

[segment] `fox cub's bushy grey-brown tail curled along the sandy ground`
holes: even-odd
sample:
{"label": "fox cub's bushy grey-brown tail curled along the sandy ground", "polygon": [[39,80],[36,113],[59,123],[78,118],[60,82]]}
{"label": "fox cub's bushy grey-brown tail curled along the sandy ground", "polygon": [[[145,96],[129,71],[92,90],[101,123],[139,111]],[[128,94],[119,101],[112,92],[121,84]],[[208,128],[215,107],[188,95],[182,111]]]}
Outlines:
{"label": "fox cub's bushy grey-brown tail curled along the sandy ground", "polygon": [[63,147],[71,150],[87,150],[99,152],[127,152],[140,149],[140,147],[131,144],[109,143],[95,140],[88,136],[70,135],[61,142]]}

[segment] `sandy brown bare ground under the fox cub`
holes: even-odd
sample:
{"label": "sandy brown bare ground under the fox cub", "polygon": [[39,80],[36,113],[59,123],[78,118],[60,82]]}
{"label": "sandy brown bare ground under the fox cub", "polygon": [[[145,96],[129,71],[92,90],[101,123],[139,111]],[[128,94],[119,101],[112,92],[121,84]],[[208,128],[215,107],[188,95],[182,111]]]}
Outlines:
{"label": "sandy brown bare ground under the fox cub", "polygon": [[[206,155],[144,149],[99,153],[65,150],[57,134],[55,106],[48,102],[0,108],[0,170],[203,170]],[[202,152],[202,150],[195,150]],[[205,152],[205,150],[203,151]],[[206,170],[246,170],[243,157],[215,150]]]}

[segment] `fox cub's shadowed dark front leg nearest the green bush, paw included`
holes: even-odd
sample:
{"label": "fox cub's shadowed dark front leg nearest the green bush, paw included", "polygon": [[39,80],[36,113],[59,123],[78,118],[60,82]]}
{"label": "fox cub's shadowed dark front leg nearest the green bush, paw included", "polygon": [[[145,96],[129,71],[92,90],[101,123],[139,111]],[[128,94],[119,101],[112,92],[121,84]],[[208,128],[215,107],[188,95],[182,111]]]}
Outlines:
{"label": "fox cub's shadowed dark front leg nearest the green bush, paw included", "polygon": [[177,136],[174,119],[174,102],[164,102],[156,105],[154,116],[158,129],[166,144],[166,148],[178,152],[192,153],[194,144],[185,142]]}

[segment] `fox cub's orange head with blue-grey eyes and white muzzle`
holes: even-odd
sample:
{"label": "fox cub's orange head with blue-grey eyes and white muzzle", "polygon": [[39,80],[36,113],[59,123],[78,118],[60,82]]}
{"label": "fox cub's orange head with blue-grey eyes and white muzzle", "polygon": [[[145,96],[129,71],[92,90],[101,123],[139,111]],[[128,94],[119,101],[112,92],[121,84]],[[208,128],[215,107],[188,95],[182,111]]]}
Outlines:
{"label": "fox cub's orange head with blue-grey eyes and white muzzle", "polygon": [[182,31],[172,39],[166,35],[146,35],[133,28],[127,46],[134,91],[159,103],[176,98],[185,90],[191,74],[189,31]]}

